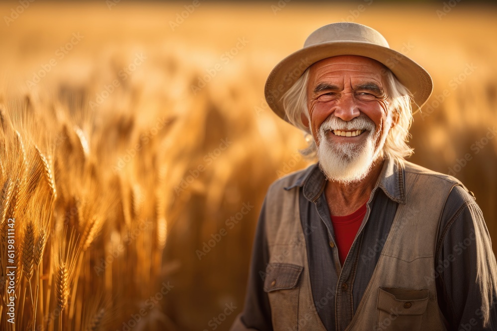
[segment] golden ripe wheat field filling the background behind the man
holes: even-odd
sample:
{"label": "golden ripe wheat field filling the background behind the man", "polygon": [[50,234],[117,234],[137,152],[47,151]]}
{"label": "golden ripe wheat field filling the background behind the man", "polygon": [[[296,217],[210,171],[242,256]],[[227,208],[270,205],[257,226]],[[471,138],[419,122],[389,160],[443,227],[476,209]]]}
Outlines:
{"label": "golden ripe wheat field filling the background behind the man", "polygon": [[411,160],[461,179],[497,238],[494,6],[26,0],[0,12],[0,330],[228,330],[265,191],[311,162],[264,80],[330,22],[370,25],[432,74]]}

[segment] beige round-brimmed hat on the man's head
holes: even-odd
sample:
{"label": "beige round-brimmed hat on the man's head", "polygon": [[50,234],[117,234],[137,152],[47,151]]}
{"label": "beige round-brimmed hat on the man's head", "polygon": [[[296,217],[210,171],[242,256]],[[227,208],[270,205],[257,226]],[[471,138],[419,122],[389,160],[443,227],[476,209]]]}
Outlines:
{"label": "beige round-brimmed hat on the man's head", "polygon": [[304,48],[290,54],[269,73],[264,87],[267,104],[288,122],[281,97],[304,71],[323,59],[339,55],[358,55],[374,59],[388,67],[414,96],[416,112],[426,103],[433,81],[429,73],[402,53],[390,49],[376,30],[357,23],[340,22],[325,25],[311,33]]}

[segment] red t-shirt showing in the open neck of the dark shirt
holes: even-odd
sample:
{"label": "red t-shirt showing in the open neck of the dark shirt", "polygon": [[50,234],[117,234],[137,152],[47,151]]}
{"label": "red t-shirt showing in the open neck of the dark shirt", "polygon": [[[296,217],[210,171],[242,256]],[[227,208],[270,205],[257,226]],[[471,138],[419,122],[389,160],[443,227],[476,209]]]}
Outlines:
{"label": "red t-shirt showing in the open neck of the dark shirt", "polygon": [[341,265],[345,262],[348,251],[350,251],[350,247],[354,242],[355,235],[361,226],[362,219],[364,218],[364,215],[366,215],[366,203],[367,201],[362,207],[350,215],[331,216],[331,224],[333,224],[336,246],[338,248],[338,257],[340,258]]}

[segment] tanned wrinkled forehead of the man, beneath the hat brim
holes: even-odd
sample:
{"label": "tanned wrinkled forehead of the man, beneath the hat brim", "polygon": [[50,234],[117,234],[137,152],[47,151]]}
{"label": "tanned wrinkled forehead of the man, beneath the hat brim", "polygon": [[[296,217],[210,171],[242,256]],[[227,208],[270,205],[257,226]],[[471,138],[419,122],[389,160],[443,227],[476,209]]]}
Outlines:
{"label": "tanned wrinkled forehead of the man, beneath the hat brim", "polygon": [[309,67],[309,84],[345,75],[359,80],[371,79],[384,86],[386,66],[380,62],[355,55],[342,55],[316,62]]}

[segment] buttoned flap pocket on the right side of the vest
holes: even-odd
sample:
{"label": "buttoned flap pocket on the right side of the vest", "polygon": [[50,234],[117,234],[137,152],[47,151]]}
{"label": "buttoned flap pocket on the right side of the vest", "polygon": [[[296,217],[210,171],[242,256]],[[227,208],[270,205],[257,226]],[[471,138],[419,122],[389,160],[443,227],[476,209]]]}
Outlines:
{"label": "buttoned flap pocket on the right side of the vest", "polygon": [[420,331],[428,306],[428,290],[378,289],[378,331]]}

